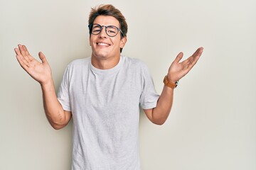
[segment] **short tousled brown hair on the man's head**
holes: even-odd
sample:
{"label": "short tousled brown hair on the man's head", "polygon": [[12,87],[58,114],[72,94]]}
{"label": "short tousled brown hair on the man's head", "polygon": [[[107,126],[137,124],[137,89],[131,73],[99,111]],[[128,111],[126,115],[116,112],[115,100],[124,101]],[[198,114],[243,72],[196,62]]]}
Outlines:
{"label": "short tousled brown hair on the man's head", "polygon": [[[123,33],[123,34],[121,33],[121,38],[127,36],[127,31],[128,31],[127,22],[125,21],[125,18],[122,15],[122,13],[119,11],[119,9],[115,8],[111,4],[100,5],[100,6],[96,6],[95,8],[92,8],[90,11],[90,16],[88,20],[89,26],[95,21],[95,18],[97,18],[97,16],[113,16],[119,21],[120,29],[122,30],[122,33]],[[122,52],[122,48],[120,49],[120,52]]]}

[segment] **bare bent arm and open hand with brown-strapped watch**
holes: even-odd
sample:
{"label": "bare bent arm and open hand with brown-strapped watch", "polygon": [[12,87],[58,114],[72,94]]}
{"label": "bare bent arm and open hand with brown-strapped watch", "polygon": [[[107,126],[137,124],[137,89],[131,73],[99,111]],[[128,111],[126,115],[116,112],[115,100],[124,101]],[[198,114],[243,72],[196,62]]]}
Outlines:
{"label": "bare bent arm and open hand with brown-strapped watch", "polygon": [[[175,85],[178,80],[188,74],[199,60],[199,57],[201,57],[202,52],[203,47],[199,47],[191,57],[188,57],[188,59],[183,62],[180,62],[183,57],[183,53],[180,52],[174,62],[171,63],[168,74],[166,75],[166,79],[169,83]],[[155,123],[156,125],[162,125],[165,123],[169,113],[171,112],[171,106],[174,100],[174,88],[175,87],[165,85],[161,95],[159,96],[156,107],[144,109],[144,113],[146,113],[147,118],[149,118],[152,123]]]}

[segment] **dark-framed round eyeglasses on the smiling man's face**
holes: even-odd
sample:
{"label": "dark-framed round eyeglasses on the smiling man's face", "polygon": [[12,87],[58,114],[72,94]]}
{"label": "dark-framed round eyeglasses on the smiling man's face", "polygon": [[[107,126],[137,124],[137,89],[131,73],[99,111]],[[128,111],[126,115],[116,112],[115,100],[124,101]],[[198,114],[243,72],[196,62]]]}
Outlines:
{"label": "dark-framed round eyeglasses on the smiling man's face", "polygon": [[115,35],[117,35],[118,31],[120,31],[122,37],[124,36],[124,33],[122,33],[122,30],[120,28],[117,28],[116,26],[100,26],[100,24],[93,23],[93,24],[90,24],[88,27],[90,30],[90,34],[93,34],[93,35],[100,34],[103,27],[105,27],[105,31],[107,35],[109,35],[110,37],[114,37]]}

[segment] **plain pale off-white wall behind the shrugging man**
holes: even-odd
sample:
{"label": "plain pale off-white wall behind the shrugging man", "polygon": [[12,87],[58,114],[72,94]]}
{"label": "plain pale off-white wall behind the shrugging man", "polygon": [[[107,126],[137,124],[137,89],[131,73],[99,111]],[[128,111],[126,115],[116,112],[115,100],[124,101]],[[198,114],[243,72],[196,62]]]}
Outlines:
{"label": "plain pale off-white wall behind the shrugging man", "polygon": [[56,90],[65,67],[91,54],[90,8],[113,4],[129,26],[123,55],[145,62],[160,94],[178,52],[201,59],[175,89],[164,125],[140,115],[142,170],[256,169],[256,1],[1,0],[0,169],[68,170],[72,122],[53,130],[41,87],[16,61],[46,55]]}

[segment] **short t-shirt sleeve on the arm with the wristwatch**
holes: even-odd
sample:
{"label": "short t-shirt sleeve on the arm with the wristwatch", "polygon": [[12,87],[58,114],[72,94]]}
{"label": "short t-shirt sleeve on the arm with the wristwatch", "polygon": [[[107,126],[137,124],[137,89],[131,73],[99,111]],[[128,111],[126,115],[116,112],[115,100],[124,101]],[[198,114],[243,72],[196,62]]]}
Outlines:
{"label": "short t-shirt sleeve on the arm with the wristwatch", "polygon": [[142,71],[142,95],[140,97],[140,106],[143,109],[155,108],[159,99],[159,94],[156,94],[154,81],[146,64],[143,65]]}

